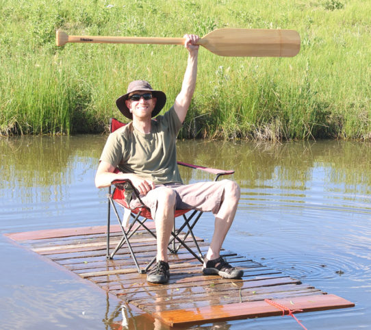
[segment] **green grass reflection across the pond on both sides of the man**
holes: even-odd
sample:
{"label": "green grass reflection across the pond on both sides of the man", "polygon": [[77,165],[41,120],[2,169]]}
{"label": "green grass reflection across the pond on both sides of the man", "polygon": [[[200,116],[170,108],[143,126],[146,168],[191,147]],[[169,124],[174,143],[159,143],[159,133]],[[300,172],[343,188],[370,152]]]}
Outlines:
{"label": "green grass reflection across the pond on both sides of the man", "polygon": [[[50,198],[53,186],[59,190],[71,183],[76,166],[97,165],[105,136],[44,136],[0,140],[1,189],[45,188]],[[305,190],[316,175],[322,175],[333,192],[364,194],[371,187],[370,144],[320,141],[266,144],[255,142],[178,141],[183,162],[214,168],[235,169],[234,179],[243,188],[259,186]],[[201,171],[181,168],[185,182],[207,179]],[[334,186],[335,185],[335,186]],[[58,193],[55,192],[55,195]],[[60,192],[63,195],[63,192]],[[26,194],[28,198],[34,192]],[[58,196],[55,196],[57,199]],[[348,196],[349,198],[349,196]]]}

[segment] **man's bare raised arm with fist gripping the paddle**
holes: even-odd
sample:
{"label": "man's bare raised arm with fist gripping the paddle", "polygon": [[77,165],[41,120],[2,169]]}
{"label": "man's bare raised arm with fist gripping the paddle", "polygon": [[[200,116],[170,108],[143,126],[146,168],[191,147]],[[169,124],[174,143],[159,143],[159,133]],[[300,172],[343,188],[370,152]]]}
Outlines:
{"label": "man's bare raised arm with fist gripping the paddle", "polygon": [[185,116],[187,115],[194,93],[194,88],[196,87],[197,58],[199,55],[199,45],[196,45],[196,42],[199,41],[199,36],[195,36],[194,34],[186,34],[184,38],[184,46],[189,52],[188,64],[187,68],[185,69],[183,84],[181,85],[181,92],[178,94],[174,103],[175,112],[177,113],[181,123],[183,123]]}

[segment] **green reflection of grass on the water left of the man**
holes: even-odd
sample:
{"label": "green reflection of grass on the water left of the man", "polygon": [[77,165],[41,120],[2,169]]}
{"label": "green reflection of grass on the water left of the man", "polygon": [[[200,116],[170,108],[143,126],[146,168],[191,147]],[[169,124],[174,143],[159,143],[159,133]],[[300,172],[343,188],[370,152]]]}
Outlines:
{"label": "green reflection of grass on the water left of the man", "polygon": [[71,183],[77,163],[99,157],[101,140],[90,136],[24,136],[0,139],[1,188]]}

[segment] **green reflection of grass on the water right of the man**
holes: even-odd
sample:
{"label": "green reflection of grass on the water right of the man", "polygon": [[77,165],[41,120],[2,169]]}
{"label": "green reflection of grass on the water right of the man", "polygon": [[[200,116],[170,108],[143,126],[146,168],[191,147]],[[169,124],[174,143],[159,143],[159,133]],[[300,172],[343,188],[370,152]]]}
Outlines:
{"label": "green reflection of grass on the water right of the man", "polygon": [[[235,169],[235,180],[244,188],[259,186],[305,190],[323,172],[336,190],[370,194],[371,149],[362,142],[320,141],[266,144],[255,142],[179,141],[179,159],[209,167]],[[202,173],[182,172],[187,180]]]}

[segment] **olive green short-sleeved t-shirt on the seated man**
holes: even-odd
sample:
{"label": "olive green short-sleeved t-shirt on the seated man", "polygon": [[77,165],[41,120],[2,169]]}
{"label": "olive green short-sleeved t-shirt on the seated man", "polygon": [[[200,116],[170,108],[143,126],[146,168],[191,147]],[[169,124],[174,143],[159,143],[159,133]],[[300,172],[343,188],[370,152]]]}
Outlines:
{"label": "olive green short-sleeved t-shirt on the seated man", "polygon": [[100,160],[154,183],[182,183],[176,147],[181,125],[173,106],[152,119],[150,134],[136,130],[131,122],[110,134]]}

